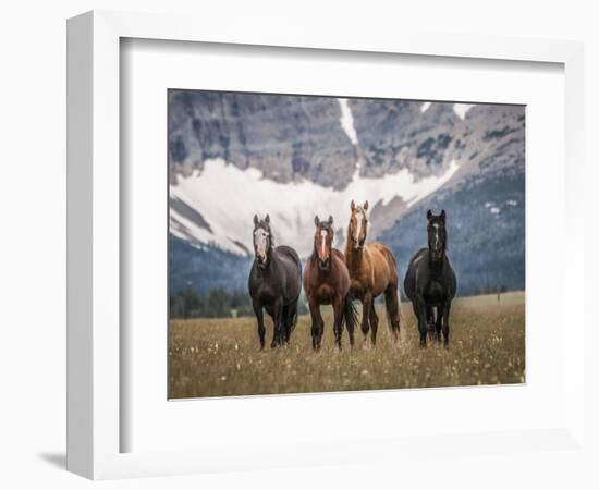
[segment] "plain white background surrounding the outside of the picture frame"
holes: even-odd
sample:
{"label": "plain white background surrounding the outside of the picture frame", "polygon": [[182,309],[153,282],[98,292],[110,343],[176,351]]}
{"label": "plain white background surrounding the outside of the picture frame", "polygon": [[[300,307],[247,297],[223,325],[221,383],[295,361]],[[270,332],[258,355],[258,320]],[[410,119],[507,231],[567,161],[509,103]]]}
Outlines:
{"label": "plain white background surrounding the outside of the picture frame", "polygon": [[[203,4],[205,3],[205,4]],[[256,24],[294,19],[306,29],[334,29],[352,23],[356,36],[370,29],[419,29],[462,34],[498,34],[583,39],[586,48],[586,155],[588,256],[597,246],[594,183],[599,155],[599,32],[591,2],[433,1],[433,2],[201,2],[201,1],[22,1],[3,5],[0,17],[0,135],[2,143],[1,207],[3,235],[2,332],[0,351],[2,408],[0,412],[0,486],[88,487],[93,483],[64,471],[65,378],[65,25],[64,19],[94,8],[194,11],[204,22]],[[391,7],[391,4],[393,7]],[[201,25],[198,25],[198,29]],[[590,162],[594,162],[591,166]],[[588,261],[595,268],[597,261]],[[551,280],[548,273],[548,280]],[[573,285],[575,286],[575,285]],[[591,283],[587,279],[587,299]],[[583,307],[583,303],[580,303]],[[7,315],[8,314],[8,315]],[[595,321],[597,323],[597,321]],[[589,331],[587,345],[599,345]],[[589,356],[588,368],[597,372]],[[598,441],[595,377],[587,379],[588,428]],[[431,450],[431,452],[433,452]],[[481,455],[470,471],[448,455],[430,463],[398,461],[395,465],[308,468],[172,479],[110,481],[110,488],[305,488],[334,486],[444,488],[592,488],[597,454],[545,452]],[[403,464],[405,463],[405,464]],[[594,479],[594,483],[591,479]]]}

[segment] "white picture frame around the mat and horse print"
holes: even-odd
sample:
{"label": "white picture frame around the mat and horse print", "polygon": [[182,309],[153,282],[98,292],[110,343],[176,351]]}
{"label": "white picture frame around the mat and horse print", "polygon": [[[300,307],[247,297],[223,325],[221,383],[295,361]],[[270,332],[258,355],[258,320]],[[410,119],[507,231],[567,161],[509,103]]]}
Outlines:
{"label": "white picture frame around the mat and horse print", "polygon": [[[362,57],[398,53],[451,59],[543,62],[564,70],[565,197],[563,231],[567,267],[564,282],[584,284],[582,247],[583,187],[583,47],[579,42],[485,36],[419,36],[379,33],[356,38],[340,27],[329,33],[305,33],[289,26],[253,29],[235,25],[225,30],[181,15],[89,12],[68,23],[68,468],[94,479],[176,475],[215,470],[255,469],[293,465],[384,458],[409,451],[426,451],[426,438],[377,438],[350,441],[303,441],[302,451],[274,451],[255,441],[237,441],[234,450],[121,452],[126,420],[120,399],[123,351],[121,305],[121,201],[126,188],[120,174],[120,44],[122,38],[176,40],[268,49],[323,49],[352,51]],[[291,52],[291,51],[290,51]],[[166,175],[166,172],[164,172]],[[565,219],[567,218],[567,219]],[[576,292],[564,290],[563,310]],[[560,309],[561,310],[561,309]],[[546,428],[504,433],[463,433],[442,438],[444,451],[463,448],[476,439],[478,450],[537,451],[550,445],[584,448],[584,335],[583,309],[569,308],[563,330],[563,416]],[[563,318],[558,321],[563,322]],[[528,326],[527,326],[528,327]],[[164,371],[166,376],[166,371]],[[431,396],[436,396],[431,392]],[[270,399],[272,400],[272,399]],[[262,400],[265,402],[265,400]],[[266,400],[265,403],[268,403]],[[298,403],[289,399],[288,405]],[[339,404],[351,403],[338,399]],[[198,411],[201,408],[198,408]],[[469,439],[468,439],[469,438]],[[216,444],[218,448],[219,444]],[[289,442],[289,441],[288,441]],[[293,463],[289,463],[293,456]]]}

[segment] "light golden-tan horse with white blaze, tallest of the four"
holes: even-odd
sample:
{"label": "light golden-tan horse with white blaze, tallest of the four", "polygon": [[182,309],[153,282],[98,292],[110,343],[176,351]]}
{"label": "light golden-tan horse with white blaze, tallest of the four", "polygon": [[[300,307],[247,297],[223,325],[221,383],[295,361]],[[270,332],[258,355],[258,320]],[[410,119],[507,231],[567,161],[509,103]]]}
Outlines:
{"label": "light golden-tan horse with white blaze, tallest of the four", "polygon": [[399,275],[395,257],[382,243],[366,244],[368,229],[368,201],[364,206],[350,205],[352,215],[347,228],[345,261],[350,271],[352,297],[362,302],[362,333],[364,340],[371,330],[372,346],[377,343],[379,318],[375,309],[375,298],[384,295],[387,323],[396,344],[400,336],[401,303],[398,291]]}

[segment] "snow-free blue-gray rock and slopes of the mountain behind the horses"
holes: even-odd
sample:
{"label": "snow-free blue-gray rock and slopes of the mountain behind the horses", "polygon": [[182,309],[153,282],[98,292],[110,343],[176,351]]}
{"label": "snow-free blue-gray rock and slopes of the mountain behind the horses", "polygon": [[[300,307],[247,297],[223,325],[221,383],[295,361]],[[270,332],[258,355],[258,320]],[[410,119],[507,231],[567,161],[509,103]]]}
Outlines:
{"label": "snow-free blue-gray rock and slopes of the mountain behind the horses", "polygon": [[[170,90],[171,184],[201,171],[212,158],[256,168],[274,182],[308,180],[335,189],[345,188],[356,169],[364,177],[407,169],[418,181],[443,175],[454,162],[457,171],[451,180],[418,203],[398,196],[383,206],[372,196],[369,238],[392,246],[403,273],[409,256],[426,246],[426,209],[444,208],[460,293],[524,287],[525,108],[479,103],[464,115],[450,102],[347,103],[355,145],[342,127],[334,98]],[[171,208],[210,231],[201,209],[180,199],[171,199]],[[245,272],[239,267],[249,264],[247,255],[240,258],[197,243],[173,218],[171,228],[183,237],[172,238],[178,245],[171,249],[171,290],[182,284],[203,292],[211,284],[244,287]],[[205,264],[215,257],[222,270],[235,270],[230,280],[213,262]],[[190,277],[204,266],[211,272]]]}

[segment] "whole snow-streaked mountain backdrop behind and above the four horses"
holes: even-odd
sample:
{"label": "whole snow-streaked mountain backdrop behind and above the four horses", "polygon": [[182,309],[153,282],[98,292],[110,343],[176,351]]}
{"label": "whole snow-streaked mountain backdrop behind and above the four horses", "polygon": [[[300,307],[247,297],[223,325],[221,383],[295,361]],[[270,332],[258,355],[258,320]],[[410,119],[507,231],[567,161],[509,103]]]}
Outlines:
{"label": "whole snow-streaked mountain backdrop behind and above the four horses", "polygon": [[252,218],[311,252],[314,216],[343,248],[351,199],[400,273],[448,212],[460,294],[524,287],[523,106],[169,91],[171,291],[244,289]]}

